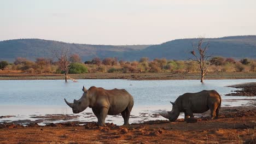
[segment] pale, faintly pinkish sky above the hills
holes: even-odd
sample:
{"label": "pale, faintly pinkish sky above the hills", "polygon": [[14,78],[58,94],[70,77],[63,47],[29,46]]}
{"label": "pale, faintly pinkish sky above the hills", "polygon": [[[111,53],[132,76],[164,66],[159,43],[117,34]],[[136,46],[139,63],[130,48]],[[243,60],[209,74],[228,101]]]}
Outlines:
{"label": "pale, faintly pinkish sky above the hills", "polygon": [[160,44],[256,35],[255,0],[0,0],[0,41]]}

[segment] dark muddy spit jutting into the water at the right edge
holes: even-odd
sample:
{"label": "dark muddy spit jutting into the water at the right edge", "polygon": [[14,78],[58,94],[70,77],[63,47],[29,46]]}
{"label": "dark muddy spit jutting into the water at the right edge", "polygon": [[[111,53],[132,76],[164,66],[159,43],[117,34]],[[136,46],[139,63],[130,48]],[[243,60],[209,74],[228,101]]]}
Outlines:
{"label": "dark muddy spit jutting into the water at the right edge", "polygon": [[248,82],[242,83],[239,85],[232,85],[228,87],[235,87],[235,88],[242,88],[234,91],[235,93],[229,93],[226,95],[231,96],[246,96],[246,97],[253,97],[256,96],[256,82]]}

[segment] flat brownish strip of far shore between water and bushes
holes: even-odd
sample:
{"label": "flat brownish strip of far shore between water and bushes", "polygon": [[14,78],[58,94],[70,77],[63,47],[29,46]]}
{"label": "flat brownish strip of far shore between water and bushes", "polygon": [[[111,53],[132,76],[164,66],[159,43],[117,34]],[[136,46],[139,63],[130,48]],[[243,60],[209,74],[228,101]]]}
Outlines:
{"label": "flat brownish strip of far shore between water and bushes", "polygon": [[[199,80],[199,73],[88,73],[70,74],[73,79],[129,79],[129,80]],[[62,74],[0,73],[0,80],[62,80]],[[256,79],[254,73],[208,73],[212,79]]]}

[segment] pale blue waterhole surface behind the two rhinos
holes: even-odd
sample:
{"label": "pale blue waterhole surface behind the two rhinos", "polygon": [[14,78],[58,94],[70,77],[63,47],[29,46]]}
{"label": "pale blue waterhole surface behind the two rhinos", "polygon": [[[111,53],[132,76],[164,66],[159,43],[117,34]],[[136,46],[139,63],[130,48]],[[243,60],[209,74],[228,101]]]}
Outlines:
{"label": "pale blue waterhole surface behind the two rhinos", "polygon": [[[105,89],[126,89],[134,98],[135,105],[132,115],[139,116],[144,112],[159,112],[160,110],[171,110],[169,101],[174,101],[183,93],[194,93],[203,89],[214,89],[222,95],[223,106],[239,106],[252,103],[249,100],[229,99],[252,99],[255,97],[231,97],[225,94],[231,93],[236,88],[226,87],[244,82],[255,82],[250,80],[78,80],[78,82],[65,83],[64,80],[1,80],[0,81],[0,116],[19,115],[16,119],[29,118],[30,115],[45,114],[70,114],[72,113],[65,102],[79,99],[83,92],[82,87],[103,87]],[[85,112],[91,112],[86,109]],[[83,113],[80,113],[83,117]],[[0,121],[6,120],[0,119]],[[11,118],[9,118],[11,119]],[[110,118],[111,119],[111,118]],[[121,117],[118,121],[123,122]],[[150,118],[144,119],[145,121]],[[152,119],[152,118],[151,118]],[[154,118],[153,118],[154,119]],[[161,119],[161,118],[157,118]],[[96,118],[80,118],[83,121],[96,121]],[[142,121],[143,118],[131,118],[131,121]]]}

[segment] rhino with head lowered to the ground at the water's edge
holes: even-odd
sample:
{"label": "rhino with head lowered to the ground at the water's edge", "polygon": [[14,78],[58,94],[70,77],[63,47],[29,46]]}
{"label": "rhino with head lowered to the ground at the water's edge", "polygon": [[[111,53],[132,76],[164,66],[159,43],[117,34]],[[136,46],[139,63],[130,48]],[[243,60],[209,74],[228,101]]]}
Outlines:
{"label": "rhino with head lowered to the ground at the water's edge", "polygon": [[211,110],[211,119],[218,118],[219,109],[222,103],[222,98],[218,92],[211,90],[203,90],[198,93],[185,93],[179,96],[174,103],[172,103],[172,111],[168,115],[160,114],[168,118],[171,122],[175,121],[180,112],[185,113],[185,121],[187,118],[194,117],[193,113],[203,113]]}

